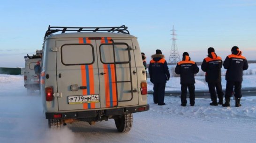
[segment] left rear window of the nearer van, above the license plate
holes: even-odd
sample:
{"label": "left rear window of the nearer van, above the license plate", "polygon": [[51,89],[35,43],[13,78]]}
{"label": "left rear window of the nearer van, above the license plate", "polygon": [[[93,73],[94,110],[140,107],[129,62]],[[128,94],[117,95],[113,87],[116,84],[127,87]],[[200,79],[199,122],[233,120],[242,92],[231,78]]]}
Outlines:
{"label": "left rear window of the nearer van, above the license plate", "polygon": [[64,65],[84,65],[94,62],[94,49],[91,44],[65,44],[60,48],[61,62]]}

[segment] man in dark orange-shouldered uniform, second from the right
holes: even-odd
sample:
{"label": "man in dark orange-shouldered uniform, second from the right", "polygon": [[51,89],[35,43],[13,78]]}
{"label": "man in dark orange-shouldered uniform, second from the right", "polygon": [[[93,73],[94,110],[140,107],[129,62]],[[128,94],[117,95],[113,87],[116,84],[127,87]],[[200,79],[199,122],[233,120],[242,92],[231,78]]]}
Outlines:
{"label": "man in dark orange-shouldered uniform, second from the right", "polygon": [[[208,56],[203,59],[201,69],[205,72],[205,81],[208,83],[209,92],[211,94],[212,106],[218,106],[223,104],[223,91],[221,86],[221,69],[222,60],[221,57],[217,56],[214,48],[208,48]],[[216,91],[218,94],[218,102]]]}

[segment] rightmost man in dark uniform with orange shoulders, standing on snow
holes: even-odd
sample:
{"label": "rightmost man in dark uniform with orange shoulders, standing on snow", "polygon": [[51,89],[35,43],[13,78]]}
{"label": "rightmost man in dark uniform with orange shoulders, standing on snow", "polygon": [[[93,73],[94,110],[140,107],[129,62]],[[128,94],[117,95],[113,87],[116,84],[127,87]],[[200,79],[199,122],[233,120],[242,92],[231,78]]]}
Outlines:
{"label": "rightmost man in dark uniform with orange shoulders, standing on snow", "polygon": [[241,88],[243,81],[243,70],[248,69],[248,62],[237,46],[231,49],[232,54],[228,55],[223,63],[226,70],[226,92],[225,104],[223,107],[230,106],[230,97],[233,92],[235,96],[235,107],[240,107],[240,99],[242,97]]}

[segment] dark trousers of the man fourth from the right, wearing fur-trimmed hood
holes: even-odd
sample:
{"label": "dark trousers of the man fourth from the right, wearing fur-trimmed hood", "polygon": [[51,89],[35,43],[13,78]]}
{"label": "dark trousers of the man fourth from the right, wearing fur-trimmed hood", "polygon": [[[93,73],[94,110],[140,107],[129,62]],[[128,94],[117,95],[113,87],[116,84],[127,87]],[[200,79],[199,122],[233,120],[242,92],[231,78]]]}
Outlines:
{"label": "dark trousers of the man fourth from the right, wearing fur-trimmed hood", "polygon": [[154,103],[164,104],[166,83],[154,83]]}

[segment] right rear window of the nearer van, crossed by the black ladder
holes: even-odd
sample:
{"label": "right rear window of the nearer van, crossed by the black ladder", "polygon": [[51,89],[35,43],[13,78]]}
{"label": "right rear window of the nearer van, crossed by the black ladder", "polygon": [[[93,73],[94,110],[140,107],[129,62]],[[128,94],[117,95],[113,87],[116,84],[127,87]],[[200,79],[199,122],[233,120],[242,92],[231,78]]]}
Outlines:
{"label": "right rear window of the nearer van, crossed by the black ladder", "polygon": [[128,45],[126,43],[114,43],[115,53],[113,53],[113,44],[101,44],[99,49],[102,63],[114,63],[114,54],[115,62],[127,63],[130,61]]}

